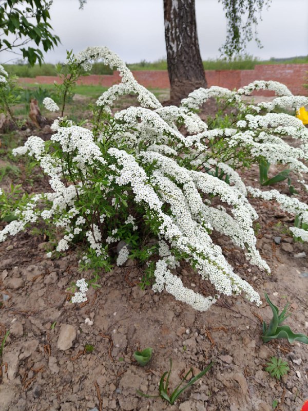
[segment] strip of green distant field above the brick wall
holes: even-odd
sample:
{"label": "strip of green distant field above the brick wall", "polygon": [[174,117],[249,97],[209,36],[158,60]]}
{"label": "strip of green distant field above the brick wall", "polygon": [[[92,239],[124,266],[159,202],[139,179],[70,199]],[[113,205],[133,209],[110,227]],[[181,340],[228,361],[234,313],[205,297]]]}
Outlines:
{"label": "strip of green distant field above the brick wall", "polygon": [[[285,63],[308,63],[308,55],[305,57],[294,57],[290,59],[271,59],[271,60],[258,60],[252,57],[239,57],[232,61],[224,59],[206,60],[203,62],[205,70],[253,70],[257,64],[285,64]],[[127,65],[130,70],[167,70],[166,60],[157,60],[155,62],[141,61],[139,63],[133,63]],[[31,67],[27,64],[4,64],[4,68],[11,74],[15,74],[18,77],[31,77],[36,76],[55,76],[55,66],[53,64],[42,64],[40,67],[36,64]],[[93,64],[91,74],[112,74],[112,70],[106,67],[103,63]]]}

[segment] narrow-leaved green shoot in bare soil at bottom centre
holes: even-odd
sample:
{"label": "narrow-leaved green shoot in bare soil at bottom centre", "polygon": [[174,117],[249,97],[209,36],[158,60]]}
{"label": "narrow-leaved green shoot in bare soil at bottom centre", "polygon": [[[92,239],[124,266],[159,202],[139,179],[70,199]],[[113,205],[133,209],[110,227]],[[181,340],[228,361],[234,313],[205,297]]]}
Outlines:
{"label": "narrow-leaved green shoot in bare soil at bottom centre", "polygon": [[[177,398],[183,393],[183,391],[190,387],[192,384],[194,384],[199,378],[203,377],[204,374],[210,369],[210,367],[213,365],[213,362],[211,362],[203,371],[199,372],[199,374],[196,377],[193,377],[184,387],[180,388],[181,385],[186,381],[186,378],[189,376],[190,372],[192,374],[192,368],[189,369],[189,371],[186,373],[180,384],[175,388],[175,390],[169,395],[168,394],[168,385],[169,385],[169,378],[171,374],[171,368],[172,368],[172,360],[170,358],[170,369],[169,372],[166,371],[163,373],[160,383],[159,383],[159,395],[156,396],[151,396],[142,393],[141,391],[137,390],[137,393],[143,397],[146,398],[158,398],[161,397],[163,400],[167,401],[169,404],[173,405]],[[165,377],[167,376],[166,382],[165,382]]]}

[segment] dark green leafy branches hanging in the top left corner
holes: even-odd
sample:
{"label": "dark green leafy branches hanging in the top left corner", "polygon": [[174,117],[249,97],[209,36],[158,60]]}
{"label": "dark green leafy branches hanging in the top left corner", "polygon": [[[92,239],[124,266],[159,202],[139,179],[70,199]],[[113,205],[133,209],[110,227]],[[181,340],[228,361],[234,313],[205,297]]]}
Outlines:
{"label": "dark green leafy branches hanging in the top left corner", "polygon": [[[43,61],[43,52],[37,47],[23,47],[30,41],[36,46],[43,45],[44,51],[52,49],[60,42],[51,34],[52,27],[47,0],[7,0],[0,4],[0,51],[18,48],[30,65]],[[14,40],[11,40],[12,35]]]}

